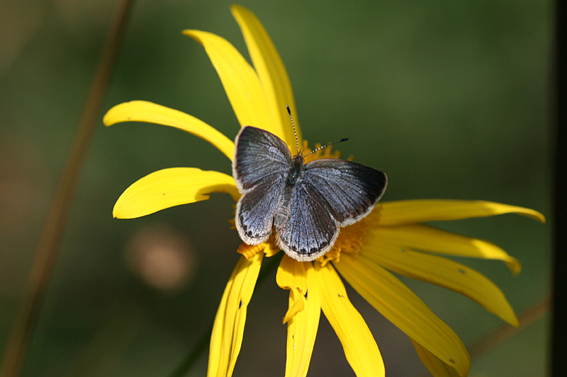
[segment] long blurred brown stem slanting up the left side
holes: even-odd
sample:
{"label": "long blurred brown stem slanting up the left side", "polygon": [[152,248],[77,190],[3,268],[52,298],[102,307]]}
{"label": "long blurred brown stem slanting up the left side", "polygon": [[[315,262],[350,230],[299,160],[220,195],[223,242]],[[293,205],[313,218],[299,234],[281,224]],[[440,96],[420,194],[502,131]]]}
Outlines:
{"label": "long blurred brown stem slanting up the left side", "polygon": [[124,35],[126,21],[128,20],[132,4],[133,0],[123,0],[121,2],[108,34],[101,61],[91,84],[91,90],[77,127],[77,133],[74,136],[71,150],[67,156],[55,196],[52,199],[50,210],[45,220],[40,243],[30,269],[26,291],[6,343],[0,376],[16,377],[21,373],[28,344],[38,321],[38,314],[47,291],[47,285],[50,282],[53,267],[57,260],[57,250],[60,248],[64,226],[67,222],[67,216],[79,180],[79,173],[88,151],[96,122],[99,120],[101,105],[106,94],[108,82],[111,79],[116,55]]}

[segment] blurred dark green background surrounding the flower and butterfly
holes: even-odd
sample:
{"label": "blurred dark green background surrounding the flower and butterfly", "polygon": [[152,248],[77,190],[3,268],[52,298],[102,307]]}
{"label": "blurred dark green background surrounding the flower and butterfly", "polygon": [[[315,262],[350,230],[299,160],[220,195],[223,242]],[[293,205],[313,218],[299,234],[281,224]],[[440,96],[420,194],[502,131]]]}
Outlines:
{"label": "blurred dark green background surrounding the flower and butterfly", "polygon": [[[103,112],[150,100],[235,137],[238,124],[195,28],[245,54],[229,1],[135,2]],[[551,214],[551,1],[242,1],[286,64],[303,136],[388,173],[384,200],[505,202]],[[116,0],[0,2],[0,349],[13,323]],[[101,114],[102,117],[102,114]],[[232,199],[112,219],[128,185],[162,168],[230,174],[213,146],[152,124],[97,125],[23,376],[167,376],[206,332],[239,255]],[[520,259],[461,260],[517,313],[550,289],[551,226],[522,216],[436,224]],[[404,282],[466,345],[503,322]],[[408,338],[354,291],[387,375],[423,376]],[[254,293],[235,376],[283,376],[287,292]],[[324,318],[322,316],[322,318]],[[544,376],[549,315],[473,360],[471,376]],[[206,352],[190,376],[206,374]],[[354,376],[322,319],[310,376]]]}

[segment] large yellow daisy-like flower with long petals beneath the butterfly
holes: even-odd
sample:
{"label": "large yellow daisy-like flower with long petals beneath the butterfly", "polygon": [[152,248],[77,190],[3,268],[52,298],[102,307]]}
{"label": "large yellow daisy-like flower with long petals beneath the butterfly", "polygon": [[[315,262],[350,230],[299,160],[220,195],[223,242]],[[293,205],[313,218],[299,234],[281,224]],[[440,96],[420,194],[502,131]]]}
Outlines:
{"label": "large yellow daisy-like flower with long petals beneath the butterfly", "polygon": [[[232,6],[232,13],[242,29],[254,68],[218,35],[199,30],[185,30],[184,34],[205,47],[241,127],[261,127],[294,148],[295,138],[286,112],[289,105],[296,120],[298,139],[307,149],[297,122],[291,84],[269,35],[246,8]],[[133,101],[115,106],[104,117],[107,126],[128,121],[183,129],[209,141],[232,159],[234,143],[228,137],[184,112]],[[318,152],[310,157],[320,155]],[[325,156],[331,156],[330,150],[325,151]],[[198,168],[159,170],[128,187],[116,202],[113,214],[120,219],[145,216],[208,199],[211,192],[228,192],[235,201],[240,197],[230,175]],[[377,205],[373,213],[359,223],[344,228],[335,247],[319,260],[298,262],[284,255],[276,282],[290,290],[289,309],[283,318],[288,325],[286,376],[307,374],[321,310],[337,332],[357,376],[384,376],[376,341],[349,301],[337,271],[410,337],[417,354],[435,376],[466,376],[471,360],[459,337],[391,272],[464,294],[507,323],[517,325],[514,311],[493,282],[473,269],[431,253],[503,260],[514,274],[520,272],[520,263],[485,240],[421,224],[505,213],[544,221],[544,217],[532,209],[493,202],[386,202]],[[232,375],[262,259],[279,250],[269,241],[257,246],[242,244],[239,252],[243,256],[230,277],[215,317],[208,376]]]}

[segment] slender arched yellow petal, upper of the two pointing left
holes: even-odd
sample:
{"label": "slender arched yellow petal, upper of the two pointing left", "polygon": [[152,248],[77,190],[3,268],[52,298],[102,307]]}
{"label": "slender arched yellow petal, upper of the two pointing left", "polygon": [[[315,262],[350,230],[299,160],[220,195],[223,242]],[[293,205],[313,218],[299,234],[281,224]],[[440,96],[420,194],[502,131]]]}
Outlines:
{"label": "slender arched yellow petal, upper of the two pointing left", "polygon": [[148,122],[182,129],[205,139],[232,160],[235,144],[225,135],[196,117],[146,101],[120,103],[108,110],[103,118],[106,126],[120,122]]}

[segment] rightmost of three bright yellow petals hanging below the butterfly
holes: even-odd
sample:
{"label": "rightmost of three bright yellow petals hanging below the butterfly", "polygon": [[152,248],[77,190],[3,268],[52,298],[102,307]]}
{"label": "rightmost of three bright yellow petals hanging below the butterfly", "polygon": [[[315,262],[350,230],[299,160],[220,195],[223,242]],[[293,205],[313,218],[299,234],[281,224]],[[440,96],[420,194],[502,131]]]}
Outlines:
{"label": "rightmost of three bright yellow petals hanging below the butterfly", "polygon": [[341,341],[344,355],[357,377],[385,376],[384,363],[364,318],[352,306],[341,279],[330,263],[315,262],[321,308]]}

